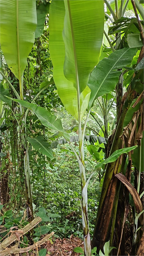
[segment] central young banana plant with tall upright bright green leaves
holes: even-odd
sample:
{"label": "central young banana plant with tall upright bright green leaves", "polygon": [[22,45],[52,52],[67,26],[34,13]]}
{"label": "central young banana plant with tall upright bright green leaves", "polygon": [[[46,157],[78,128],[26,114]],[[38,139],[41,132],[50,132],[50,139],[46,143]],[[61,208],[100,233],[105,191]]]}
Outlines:
{"label": "central young banana plant with tall upright bright green leaves", "polygon": [[[78,12],[78,10],[81,11]],[[85,255],[91,255],[87,211],[87,186],[91,177],[86,181],[83,139],[94,100],[115,88],[115,81],[114,83],[109,83],[108,87],[106,87],[105,80],[110,77],[109,74],[113,69],[118,68],[117,60],[119,59],[114,58],[116,60],[115,67],[108,59],[105,59],[107,64],[109,63],[106,71],[104,71],[104,63],[98,64],[100,68],[97,65],[103,27],[104,6],[102,1],[53,0],[51,3],[49,13],[49,50],[53,63],[53,78],[66,110],[75,117],[79,125],[79,153],[75,152],[72,145],[69,144],[76,155],[80,168]],[[124,53],[127,51],[129,49],[124,50]],[[136,49],[129,54],[129,62],[131,62],[135,52]],[[120,58],[124,53],[119,53]],[[120,64],[122,65],[122,62]],[[96,65],[98,66],[100,81],[96,79],[96,71],[92,71]],[[95,75],[93,76],[93,74]],[[118,73],[115,76],[117,80]],[[95,79],[97,84],[94,83]],[[87,107],[88,115],[82,130],[81,120]]]}

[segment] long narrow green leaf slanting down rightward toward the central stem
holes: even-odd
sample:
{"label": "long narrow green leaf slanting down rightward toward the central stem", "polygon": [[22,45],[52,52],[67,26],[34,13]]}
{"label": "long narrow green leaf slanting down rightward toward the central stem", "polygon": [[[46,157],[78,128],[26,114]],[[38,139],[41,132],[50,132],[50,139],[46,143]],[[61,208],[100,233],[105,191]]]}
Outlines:
{"label": "long narrow green leaf slanting down rightward toward the central stem", "polygon": [[24,100],[17,100],[17,99],[12,99],[12,100],[18,102],[23,107],[26,107],[31,111],[33,111],[44,126],[48,127],[49,129],[58,131],[60,135],[63,136],[67,141],[70,140],[69,134],[65,132],[62,127],[61,120],[57,119],[57,117],[55,115],[52,115],[48,110],[42,107],[38,107],[36,104],[29,103]]}

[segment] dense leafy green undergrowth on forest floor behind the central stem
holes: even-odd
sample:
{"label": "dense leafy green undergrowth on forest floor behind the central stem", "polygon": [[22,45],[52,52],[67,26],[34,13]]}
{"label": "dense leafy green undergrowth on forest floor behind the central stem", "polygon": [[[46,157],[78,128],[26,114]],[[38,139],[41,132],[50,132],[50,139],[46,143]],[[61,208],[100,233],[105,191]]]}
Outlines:
{"label": "dense leafy green undergrowth on forest floor behind the central stem", "polygon": [[[86,170],[87,173],[90,173],[96,160],[93,159],[92,161],[91,155],[86,147],[88,144],[89,142],[85,142]],[[78,150],[77,145],[75,148]],[[82,238],[81,191],[78,164],[67,144],[58,145],[53,151],[55,157],[53,163],[43,160],[41,155],[37,156],[35,162],[33,161],[32,194],[34,215],[41,217],[42,213],[46,213],[48,221],[45,224],[49,227],[50,232],[55,232],[55,237],[69,238],[73,234]],[[33,153],[37,155],[36,152]],[[100,196],[98,179],[98,174],[96,173],[88,187],[88,210],[91,234],[94,229],[96,209]],[[7,229],[7,231],[1,233],[2,238],[6,236],[13,226],[26,225],[28,223],[24,221],[23,224],[20,224],[26,207],[23,204],[23,195],[17,194],[16,201],[13,198],[11,200],[11,198],[12,196],[10,195],[9,204],[2,209],[3,216],[1,216],[1,224],[4,221],[4,227]],[[10,204],[11,209],[9,209]],[[9,210],[6,210],[7,208]],[[39,215],[38,212],[41,212],[41,214]],[[41,234],[43,233],[44,231]],[[39,239],[38,236],[37,239]],[[24,238],[24,242],[26,242],[25,240],[26,237]]]}

